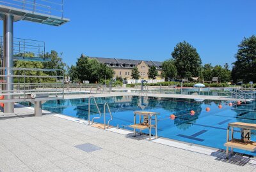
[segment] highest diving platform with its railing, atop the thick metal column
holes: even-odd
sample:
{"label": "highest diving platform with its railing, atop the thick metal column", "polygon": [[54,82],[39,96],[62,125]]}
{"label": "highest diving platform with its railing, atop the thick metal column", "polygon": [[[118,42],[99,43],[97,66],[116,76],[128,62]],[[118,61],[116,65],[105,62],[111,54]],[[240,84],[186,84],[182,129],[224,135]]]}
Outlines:
{"label": "highest diving platform with its railing, atop the thick metal column", "polygon": [[6,14],[13,15],[14,22],[25,20],[60,26],[70,21],[63,17],[63,2],[2,0],[0,1],[1,20],[4,20]]}

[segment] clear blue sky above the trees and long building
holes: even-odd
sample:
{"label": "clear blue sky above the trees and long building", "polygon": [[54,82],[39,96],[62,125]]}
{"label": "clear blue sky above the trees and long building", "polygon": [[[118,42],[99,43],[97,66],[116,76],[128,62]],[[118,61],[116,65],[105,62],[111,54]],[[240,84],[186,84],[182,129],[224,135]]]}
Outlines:
{"label": "clear blue sky above the trees and long building", "polygon": [[[15,22],[17,38],[45,41],[68,65],[82,53],[164,61],[180,41],[193,45],[203,64],[235,61],[237,45],[256,34],[255,0],[65,0],[61,27]],[[3,25],[3,22],[1,22]],[[3,27],[0,27],[3,32]]]}

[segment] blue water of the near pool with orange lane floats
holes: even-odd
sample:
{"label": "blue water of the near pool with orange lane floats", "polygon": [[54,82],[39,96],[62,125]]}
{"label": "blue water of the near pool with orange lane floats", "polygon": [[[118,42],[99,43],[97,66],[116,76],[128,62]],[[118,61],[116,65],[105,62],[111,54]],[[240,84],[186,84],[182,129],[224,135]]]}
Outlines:
{"label": "blue water of the near pool with orange lane floats", "polygon": [[[237,107],[239,110],[234,110],[234,108],[228,106],[229,102],[225,101],[138,96],[96,99],[102,113],[104,103],[108,102],[113,114],[110,125],[119,125],[119,127],[132,130],[128,125],[133,123],[133,111],[156,111],[160,113],[157,117],[159,136],[214,148],[225,149],[223,144],[227,139],[228,123],[247,122],[256,124],[256,112],[252,111],[252,107],[255,107],[254,102],[242,104],[240,108]],[[218,108],[220,103],[223,106],[221,109]],[[207,107],[211,108],[209,112],[205,110]],[[88,99],[48,101],[44,104],[44,109],[88,120]],[[195,111],[195,115],[190,115],[191,110]],[[90,106],[90,111],[91,120],[93,117],[99,116],[94,104]],[[170,119],[171,114],[175,114],[174,120]],[[109,113],[106,114],[106,119],[109,120]],[[103,123],[103,118],[97,119],[95,122]],[[256,140],[255,132],[252,131],[252,140]],[[241,138],[238,129],[234,136],[235,138]],[[256,152],[236,151],[256,155]]]}

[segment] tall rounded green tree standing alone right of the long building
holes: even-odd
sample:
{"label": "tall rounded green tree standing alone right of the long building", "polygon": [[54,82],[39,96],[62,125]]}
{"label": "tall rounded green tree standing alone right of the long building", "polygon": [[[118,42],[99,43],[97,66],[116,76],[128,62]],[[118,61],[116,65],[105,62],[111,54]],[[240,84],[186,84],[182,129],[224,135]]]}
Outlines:
{"label": "tall rounded green tree standing alone right of the long building", "polygon": [[172,52],[172,57],[180,78],[200,76],[202,61],[192,45],[186,41],[178,43]]}

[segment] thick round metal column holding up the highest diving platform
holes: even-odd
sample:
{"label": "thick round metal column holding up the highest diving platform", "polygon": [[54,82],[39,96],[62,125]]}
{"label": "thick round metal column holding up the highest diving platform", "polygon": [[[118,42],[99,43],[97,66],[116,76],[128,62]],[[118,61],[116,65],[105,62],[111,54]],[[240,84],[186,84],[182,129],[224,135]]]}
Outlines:
{"label": "thick round metal column holding up the highest diving platform", "polygon": [[[3,57],[3,67],[13,68],[13,15],[6,14],[4,15],[4,57]],[[3,87],[3,90],[6,90],[5,93],[13,93],[13,75],[12,69],[6,69],[4,75],[9,75],[5,77],[6,84]],[[6,95],[4,99],[13,99],[13,95]],[[14,112],[14,103],[4,103],[4,113],[13,113]]]}

